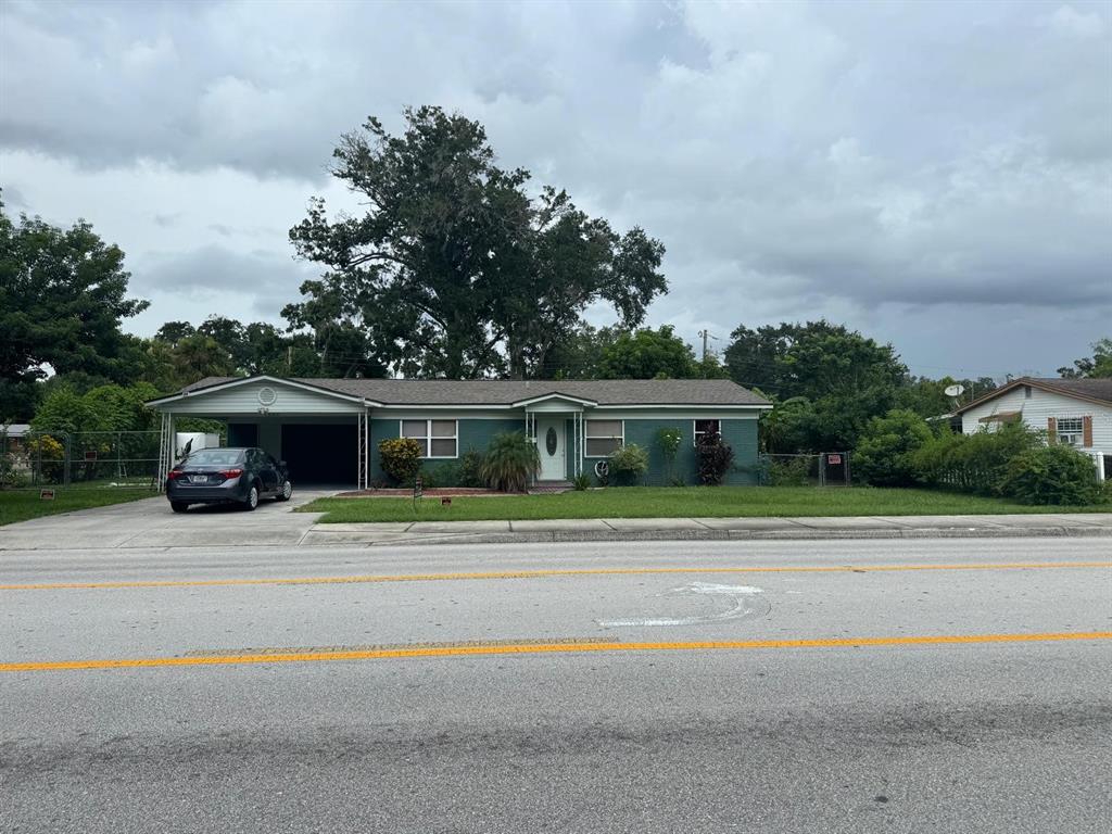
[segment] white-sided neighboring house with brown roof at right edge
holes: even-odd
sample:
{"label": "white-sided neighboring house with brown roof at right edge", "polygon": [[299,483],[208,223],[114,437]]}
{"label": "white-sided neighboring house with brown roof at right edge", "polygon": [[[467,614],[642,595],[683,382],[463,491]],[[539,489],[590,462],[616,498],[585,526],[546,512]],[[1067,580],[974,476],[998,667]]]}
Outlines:
{"label": "white-sided neighboring house with brown roof at right edge", "polygon": [[1101,479],[1112,478],[1112,379],[1021,377],[955,411],[962,431],[973,434],[1022,420],[1091,455]]}

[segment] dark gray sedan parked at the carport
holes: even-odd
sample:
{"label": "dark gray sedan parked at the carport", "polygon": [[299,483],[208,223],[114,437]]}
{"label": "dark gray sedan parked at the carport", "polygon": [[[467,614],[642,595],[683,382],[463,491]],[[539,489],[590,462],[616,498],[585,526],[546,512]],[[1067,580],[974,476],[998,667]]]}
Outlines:
{"label": "dark gray sedan parked at the carport", "polygon": [[175,513],[190,504],[239,504],[255,509],[260,498],[289,500],[294,485],[285,460],[262,449],[198,449],[166,476],[166,497]]}

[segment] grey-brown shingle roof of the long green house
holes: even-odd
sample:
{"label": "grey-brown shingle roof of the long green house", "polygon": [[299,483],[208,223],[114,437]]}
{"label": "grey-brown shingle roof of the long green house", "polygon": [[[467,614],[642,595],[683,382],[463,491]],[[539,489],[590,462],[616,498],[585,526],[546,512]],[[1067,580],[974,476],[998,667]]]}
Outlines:
{"label": "grey-brown shingle roof of the long green house", "polygon": [[[229,383],[282,377],[207,377],[181,389],[200,394]],[[772,404],[728,379],[290,379],[390,406],[515,406],[553,395],[599,406],[749,406]],[[163,397],[152,403],[170,399]]]}

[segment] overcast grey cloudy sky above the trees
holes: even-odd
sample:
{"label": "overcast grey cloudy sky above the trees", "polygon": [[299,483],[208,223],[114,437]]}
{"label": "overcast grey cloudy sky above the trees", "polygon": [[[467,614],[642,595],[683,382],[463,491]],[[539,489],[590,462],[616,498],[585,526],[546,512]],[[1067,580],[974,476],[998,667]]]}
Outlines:
{"label": "overcast grey cloudy sky above the trees", "polygon": [[825,316],[1053,374],[1112,335],[1110,8],[0,0],[0,185],[127,252],[136,332],[280,322],[337,137],[436,103],[661,238],[649,324],[692,342]]}

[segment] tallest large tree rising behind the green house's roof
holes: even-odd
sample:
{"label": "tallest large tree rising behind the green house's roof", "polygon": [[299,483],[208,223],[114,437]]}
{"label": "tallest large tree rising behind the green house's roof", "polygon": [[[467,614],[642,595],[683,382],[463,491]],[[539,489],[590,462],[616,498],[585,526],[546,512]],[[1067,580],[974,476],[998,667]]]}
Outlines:
{"label": "tallest large tree rising behind the green house's roof", "polygon": [[400,136],[370,118],[345,135],[332,173],[366,205],[330,219],[325,201],[290,230],[325,267],[284,315],[312,328],[366,334],[369,353],[407,376],[528,376],[608,304],[623,329],[667,289],[664,246],[625,234],[546,187],[506,170],[481,125],[438,107],[407,109]]}

